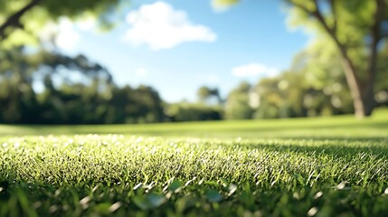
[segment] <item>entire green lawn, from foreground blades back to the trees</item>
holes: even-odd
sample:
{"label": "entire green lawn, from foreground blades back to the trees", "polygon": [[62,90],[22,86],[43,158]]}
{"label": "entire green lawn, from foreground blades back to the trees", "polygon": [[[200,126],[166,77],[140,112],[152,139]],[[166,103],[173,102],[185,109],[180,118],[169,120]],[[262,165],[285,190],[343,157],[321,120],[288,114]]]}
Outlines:
{"label": "entire green lawn, from foreground blades back to the trees", "polygon": [[388,216],[388,110],[0,132],[0,216]]}

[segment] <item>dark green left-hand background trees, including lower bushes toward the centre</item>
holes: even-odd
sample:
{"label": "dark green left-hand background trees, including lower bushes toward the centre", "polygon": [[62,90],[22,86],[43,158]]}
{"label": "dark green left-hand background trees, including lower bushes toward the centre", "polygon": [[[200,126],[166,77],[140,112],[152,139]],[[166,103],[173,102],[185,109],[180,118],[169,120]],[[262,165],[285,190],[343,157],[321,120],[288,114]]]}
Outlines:
{"label": "dark green left-hand background trees, including lower bushes toward the centre", "polygon": [[[0,122],[98,124],[164,119],[156,90],[118,88],[107,69],[83,55],[26,53],[18,48],[0,53],[0,58]],[[36,83],[43,90],[33,90]]]}

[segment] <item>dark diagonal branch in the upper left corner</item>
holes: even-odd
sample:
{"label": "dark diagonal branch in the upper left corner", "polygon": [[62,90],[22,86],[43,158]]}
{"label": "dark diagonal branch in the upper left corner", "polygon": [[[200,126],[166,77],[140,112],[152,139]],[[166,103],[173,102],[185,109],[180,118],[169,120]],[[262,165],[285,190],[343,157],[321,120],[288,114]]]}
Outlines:
{"label": "dark diagonal branch in the upper left corner", "polygon": [[20,23],[20,18],[27,11],[31,10],[33,6],[38,5],[39,1],[40,0],[32,0],[30,4],[25,5],[22,9],[8,17],[5,23],[0,26],[0,40],[4,41],[8,37],[8,34],[5,31],[6,28],[10,26],[13,26],[15,28],[23,28],[23,25]]}

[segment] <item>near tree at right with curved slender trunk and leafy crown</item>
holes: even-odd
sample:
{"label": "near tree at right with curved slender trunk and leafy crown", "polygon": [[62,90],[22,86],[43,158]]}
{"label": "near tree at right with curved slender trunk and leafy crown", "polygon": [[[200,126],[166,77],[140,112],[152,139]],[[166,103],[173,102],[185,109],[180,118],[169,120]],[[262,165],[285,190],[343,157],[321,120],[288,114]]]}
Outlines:
{"label": "near tree at right with curved slender trunk and leafy crown", "polygon": [[[220,4],[237,1],[218,0]],[[355,116],[370,116],[375,107],[374,85],[378,51],[388,37],[387,0],[285,0],[294,24],[328,37],[340,54]],[[361,59],[358,53],[363,53]],[[367,62],[365,68],[359,63]]]}

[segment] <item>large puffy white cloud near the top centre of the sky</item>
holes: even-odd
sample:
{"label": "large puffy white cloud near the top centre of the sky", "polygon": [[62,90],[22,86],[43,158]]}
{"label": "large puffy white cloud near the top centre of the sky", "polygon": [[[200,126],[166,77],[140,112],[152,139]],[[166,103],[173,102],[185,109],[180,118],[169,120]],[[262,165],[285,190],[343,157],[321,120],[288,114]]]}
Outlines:
{"label": "large puffy white cloud near the top centre of the sky", "polygon": [[185,11],[175,10],[166,2],[142,5],[127,15],[131,26],[124,42],[147,44],[154,50],[170,49],[183,42],[214,42],[217,35],[201,24],[192,24]]}

